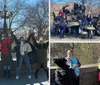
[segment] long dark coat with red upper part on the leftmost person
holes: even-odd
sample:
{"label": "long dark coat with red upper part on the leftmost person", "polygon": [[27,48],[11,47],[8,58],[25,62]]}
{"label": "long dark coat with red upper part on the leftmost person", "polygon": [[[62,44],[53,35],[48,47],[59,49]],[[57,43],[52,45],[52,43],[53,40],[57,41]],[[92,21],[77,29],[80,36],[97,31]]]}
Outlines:
{"label": "long dark coat with red upper part on the leftmost person", "polygon": [[12,38],[5,38],[2,40],[1,59],[2,59],[3,65],[11,65],[12,64],[11,43],[12,43]]}

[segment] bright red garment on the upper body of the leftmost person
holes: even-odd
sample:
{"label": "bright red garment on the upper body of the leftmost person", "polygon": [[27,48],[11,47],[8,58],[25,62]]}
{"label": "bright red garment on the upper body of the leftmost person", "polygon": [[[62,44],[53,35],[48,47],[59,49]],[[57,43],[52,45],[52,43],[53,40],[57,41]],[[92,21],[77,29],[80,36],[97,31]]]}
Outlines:
{"label": "bright red garment on the upper body of the leftmost person", "polygon": [[11,38],[5,38],[2,40],[1,43],[1,52],[8,56],[8,45],[11,43],[12,39]]}

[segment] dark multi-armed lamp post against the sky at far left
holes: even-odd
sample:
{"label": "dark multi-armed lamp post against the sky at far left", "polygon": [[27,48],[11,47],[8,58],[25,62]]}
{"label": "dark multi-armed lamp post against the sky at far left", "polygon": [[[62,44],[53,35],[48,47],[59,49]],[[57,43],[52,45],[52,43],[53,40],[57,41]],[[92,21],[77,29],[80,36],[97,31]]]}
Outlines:
{"label": "dark multi-armed lamp post against the sky at far left", "polygon": [[8,27],[6,20],[10,18],[13,15],[11,11],[8,12],[7,6],[6,6],[6,0],[4,0],[4,8],[0,11],[0,17],[4,19],[4,25],[3,25],[3,32],[4,34],[7,33]]}

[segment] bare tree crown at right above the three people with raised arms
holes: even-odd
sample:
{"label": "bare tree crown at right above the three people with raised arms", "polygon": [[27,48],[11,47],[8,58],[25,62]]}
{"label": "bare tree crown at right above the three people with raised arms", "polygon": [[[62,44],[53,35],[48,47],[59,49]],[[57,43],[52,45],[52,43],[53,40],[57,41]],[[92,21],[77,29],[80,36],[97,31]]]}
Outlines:
{"label": "bare tree crown at right above the three people with raised arms", "polygon": [[38,36],[44,36],[49,25],[48,0],[39,0],[34,6],[26,7],[25,26],[31,27],[38,32]]}

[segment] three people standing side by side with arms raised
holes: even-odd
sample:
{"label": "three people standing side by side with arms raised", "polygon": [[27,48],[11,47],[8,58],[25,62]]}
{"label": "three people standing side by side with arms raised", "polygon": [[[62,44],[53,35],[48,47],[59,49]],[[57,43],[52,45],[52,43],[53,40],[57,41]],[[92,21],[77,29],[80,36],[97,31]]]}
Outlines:
{"label": "three people standing side by side with arms raised", "polygon": [[39,41],[36,40],[34,33],[31,33],[27,39],[24,37],[17,37],[13,33],[5,34],[1,40],[1,60],[3,64],[3,78],[11,76],[12,65],[12,52],[16,53],[16,79],[20,77],[20,70],[23,60],[27,66],[28,78],[31,79],[31,64],[36,63],[35,78],[38,78],[38,72],[41,68],[44,69],[48,79],[47,68],[47,49],[49,41],[44,41],[40,37]]}

